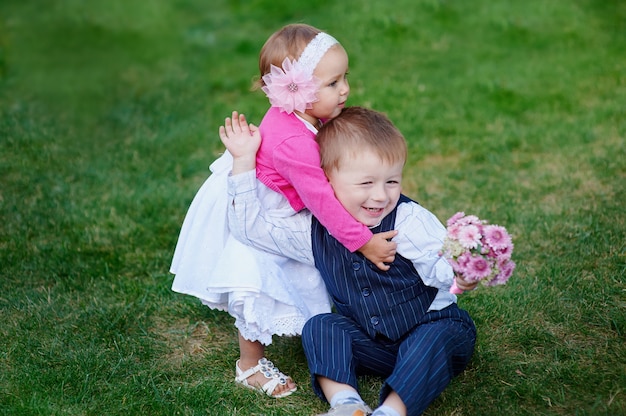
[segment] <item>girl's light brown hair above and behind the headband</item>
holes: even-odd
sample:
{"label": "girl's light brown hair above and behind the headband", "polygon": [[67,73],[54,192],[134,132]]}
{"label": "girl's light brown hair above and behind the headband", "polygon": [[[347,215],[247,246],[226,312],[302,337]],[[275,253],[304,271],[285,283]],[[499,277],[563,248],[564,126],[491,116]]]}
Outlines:
{"label": "girl's light brown hair above and behind the headband", "polygon": [[275,32],[261,48],[259,54],[260,76],[254,81],[253,90],[260,89],[265,85],[263,75],[271,71],[271,65],[281,67],[285,58],[298,59],[306,45],[320,33],[321,30],[303,23],[287,25]]}

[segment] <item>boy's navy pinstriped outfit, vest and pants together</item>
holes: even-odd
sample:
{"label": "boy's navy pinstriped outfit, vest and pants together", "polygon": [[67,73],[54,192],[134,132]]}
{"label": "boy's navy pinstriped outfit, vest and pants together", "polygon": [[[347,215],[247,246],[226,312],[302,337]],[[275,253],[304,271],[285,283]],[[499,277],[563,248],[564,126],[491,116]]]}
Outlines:
{"label": "boy's navy pinstriped outfit, vest and pants together", "polygon": [[[399,204],[409,201],[402,196]],[[394,210],[374,232],[393,229]],[[391,390],[421,414],[469,362],[476,329],[467,312],[452,304],[426,312],[437,290],[422,282],[412,263],[396,256],[382,272],[341,246],[314,218],[315,265],[335,302],[336,314],[311,318],[302,344],[315,392],[322,375],[357,386],[358,374],[387,377],[381,402]]]}

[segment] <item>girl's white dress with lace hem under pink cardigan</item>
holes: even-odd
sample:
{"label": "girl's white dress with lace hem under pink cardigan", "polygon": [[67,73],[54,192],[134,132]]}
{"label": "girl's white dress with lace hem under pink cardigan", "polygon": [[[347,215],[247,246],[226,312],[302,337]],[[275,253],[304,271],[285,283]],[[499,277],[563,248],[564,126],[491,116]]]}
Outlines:
{"label": "girl's white dress with lace hem under pink cardigan", "polygon": [[[317,269],[246,246],[230,234],[231,168],[226,152],[211,164],[211,176],[189,207],[170,268],[176,275],[172,290],[228,311],[244,338],[269,345],[272,335],[299,335],[310,317],[330,312],[330,301]],[[283,195],[259,185],[269,215],[295,213]]]}

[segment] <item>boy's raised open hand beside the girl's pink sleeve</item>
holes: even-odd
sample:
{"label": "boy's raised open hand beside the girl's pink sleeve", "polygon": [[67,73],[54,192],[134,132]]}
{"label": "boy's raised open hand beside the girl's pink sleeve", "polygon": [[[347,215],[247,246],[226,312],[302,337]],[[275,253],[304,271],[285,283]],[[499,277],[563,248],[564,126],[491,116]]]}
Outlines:
{"label": "boy's raised open hand beside the girl's pink sleeve", "polygon": [[226,117],[219,134],[222,143],[233,155],[233,174],[256,168],[256,152],[261,146],[261,133],[257,126],[248,124],[246,116],[233,111],[232,119]]}

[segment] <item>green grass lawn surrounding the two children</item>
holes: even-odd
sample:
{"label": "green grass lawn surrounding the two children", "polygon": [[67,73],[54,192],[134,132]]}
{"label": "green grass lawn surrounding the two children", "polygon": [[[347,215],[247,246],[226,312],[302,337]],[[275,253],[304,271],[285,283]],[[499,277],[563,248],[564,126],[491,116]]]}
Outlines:
{"label": "green grass lawn surrounding the two children", "polygon": [[[619,0],[0,3],[0,414],[310,415],[233,383],[230,317],[170,290],[178,231],[265,39],[325,29],[350,104],[405,134],[405,192],[514,234],[459,303],[469,368],[427,415],[626,414],[626,5]],[[381,380],[362,380],[377,400]]]}

